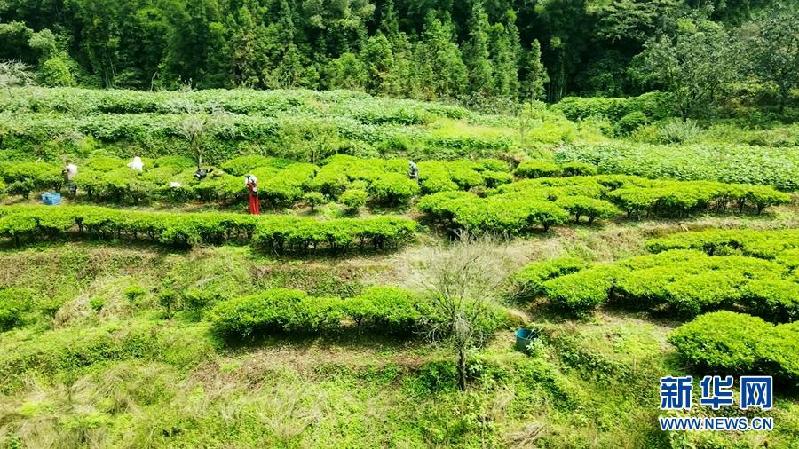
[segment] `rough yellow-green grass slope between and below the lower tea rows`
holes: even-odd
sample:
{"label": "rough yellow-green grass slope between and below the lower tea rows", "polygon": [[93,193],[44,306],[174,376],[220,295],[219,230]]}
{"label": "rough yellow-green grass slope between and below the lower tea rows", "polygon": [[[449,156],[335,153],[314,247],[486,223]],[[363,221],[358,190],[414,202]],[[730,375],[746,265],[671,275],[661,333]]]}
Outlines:
{"label": "rough yellow-green grass slope between and below the lower tea rows", "polygon": [[[785,214],[790,214],[786,211]],[[781,226],[769,218],[610,224],[498,242],[519,266],[576,255],[616,260],[645,237],[688,225]],[[756,226],[758,225],[756,224]],[[0,441],[16,447],[790,447],[799,406],[780,394],[771,434],[667,435],[656,429],[658,378],[679,374],[666,337],[679,322],[603,311],[563,320],[521,310],[544,335],[531,356],[510,330],[470,357],[456,387],[445,347],[374,336],[217,341],[202,312],[170,319],[164,288],[263,288],[355,294],[405,285],[418,247],[359,258],[273,259],[247,248],[170,252],[95,242],[0,252],[0,287],[58,298],[37,321],[2,334]],[[55,279],[56,282],[51,282]],[[134,303],[126,292],[140,286]],[[102,296],[94,310],[91,299]],[[53,319],[59,317],[59,319]],[[23,368],[24,367],[24,368]],[[710,441],[706,441],[710,440]],[[687,443],[686,443],[687,444]]]}

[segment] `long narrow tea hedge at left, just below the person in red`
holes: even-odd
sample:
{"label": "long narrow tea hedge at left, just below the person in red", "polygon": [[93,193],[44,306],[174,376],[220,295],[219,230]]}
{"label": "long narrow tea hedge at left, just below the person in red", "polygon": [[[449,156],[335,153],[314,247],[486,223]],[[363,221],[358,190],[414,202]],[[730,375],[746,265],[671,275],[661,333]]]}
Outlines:
{"label": "long narrow tea hedge at left, just below the person in red", "polygon": [[91,206],[0,208],[0,237],[22,241],[82,236],[142,240],[173,246],[250,242],[264,250],[391,248],[413,239],[416,223],[375,216],[315,220],[294,216],[250,216],[206,212],[170,213]]}

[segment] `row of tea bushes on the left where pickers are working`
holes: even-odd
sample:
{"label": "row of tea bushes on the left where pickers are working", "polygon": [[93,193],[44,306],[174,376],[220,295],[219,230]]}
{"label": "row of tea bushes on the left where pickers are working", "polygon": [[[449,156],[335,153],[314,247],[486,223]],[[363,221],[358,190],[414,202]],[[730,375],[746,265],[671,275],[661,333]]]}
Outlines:
{"label": "row of tea bushes on the left where pickers are working", "polygon": [[[288,207],[297,202],[312,206],[336,200],[357,211],[370,202],[400,206],[420,193],[492,188],[513,179],[508,164],[499,160],[424,161],[420,180],[408,178],[408,161],[358,159],[336,155],[320,167],[259,155],[241,156],[223,163],[202,181],[194,178],[194,163],[167,156],[144,160],[145,170],[130,170],[125,161],[95,156],[80,164],[74,179],[79,195],[92,202],[140,204],[152,201],[187,201],[233,204],[244,201],[243,176],[259,179],[265,205]],[[0,163],[0,191],[28,197],[33,192],[63,187],[61,168],[46,162]],[[310,195],[308,195],[310,194]]]}

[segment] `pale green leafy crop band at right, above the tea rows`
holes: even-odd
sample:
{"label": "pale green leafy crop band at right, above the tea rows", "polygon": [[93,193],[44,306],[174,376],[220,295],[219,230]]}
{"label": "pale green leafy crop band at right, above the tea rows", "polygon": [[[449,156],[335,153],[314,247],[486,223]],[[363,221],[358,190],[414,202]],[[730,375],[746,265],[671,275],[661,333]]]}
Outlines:
{"label": "pale green leafy crop band at right, above the tea rows", "polygon": [[600,173],[763,184],[784,191],[799,190],[799,151],[791,147],[574,144],[556,149],[556,158],[593,164]]}

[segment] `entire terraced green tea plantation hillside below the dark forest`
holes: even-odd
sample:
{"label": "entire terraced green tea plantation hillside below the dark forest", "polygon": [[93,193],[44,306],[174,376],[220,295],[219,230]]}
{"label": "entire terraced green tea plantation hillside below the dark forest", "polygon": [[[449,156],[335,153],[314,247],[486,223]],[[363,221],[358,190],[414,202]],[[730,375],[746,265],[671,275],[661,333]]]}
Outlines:
{"label": "entire terraced green tea plantation hillside below the dark forest", "polygon": [[0,447],[796,448],[799,132],[660,95],[0,89]]}

